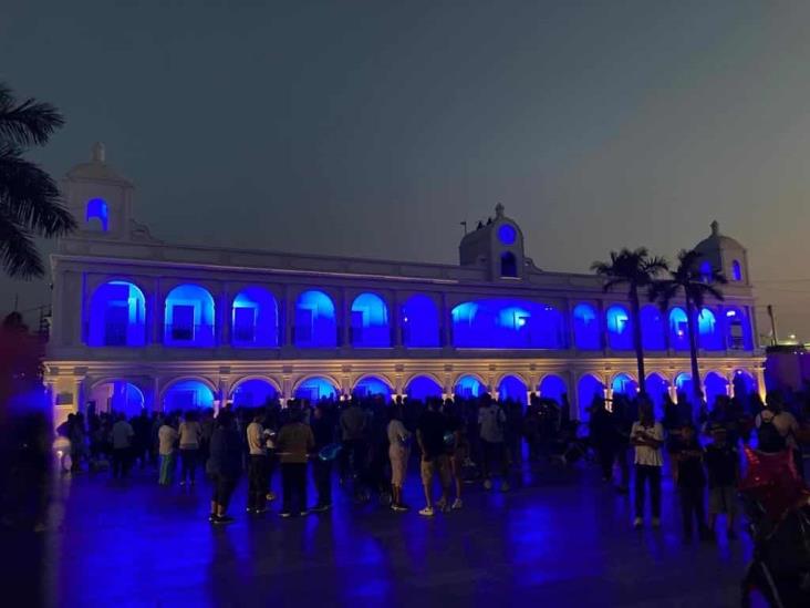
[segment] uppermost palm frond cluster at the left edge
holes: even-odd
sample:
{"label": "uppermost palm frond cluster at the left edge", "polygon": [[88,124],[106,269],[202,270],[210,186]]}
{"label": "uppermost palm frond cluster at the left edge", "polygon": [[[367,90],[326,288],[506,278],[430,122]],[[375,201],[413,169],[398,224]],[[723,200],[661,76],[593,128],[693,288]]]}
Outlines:
{"label": "uppermost palm frond cluster at the left edge", "polygon": [[50,103],[32,99],[17,103],[11,89],[0,83],[0,141],[43,145],[63,124],[62,114]]}

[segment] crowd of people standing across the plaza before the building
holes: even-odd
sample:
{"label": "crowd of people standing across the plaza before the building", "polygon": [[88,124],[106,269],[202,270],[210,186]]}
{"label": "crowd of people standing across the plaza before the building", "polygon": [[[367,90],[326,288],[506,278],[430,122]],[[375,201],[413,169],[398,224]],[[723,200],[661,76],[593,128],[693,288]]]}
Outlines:
{"label": "crowd of people standing across the plaza before the building", "polygon": [[[668,461],[684,534],[692,538],[696,528],[705,539],[715,537],[720,514],[727,516],[727,534],[735,535],[741,443],[756,437],[760,450],[791,450],[801,472],[801,442],[810,439],[804,425],[810,399],[804,393],[786,403],[781,393],[771,392],[767,404],[756,394],[718,396],[710,409],[694,408],[678,394],[677,401],[665,399],[661,420],[645,395],[595,396],[586,423],[571,420],[564,395],[561,401],[532,395],[522,406],[499,403],[489,394],[391,403],[381,396],[314,404],[292,400],[283,408],[278,402],[261,408],[229,404],[216,416],[210,410],[144,411],[129,420],[90,408],[86,421],[71,414],[59,434],[70,445],[65,454],[73,471],[86,464],[90,471],[110,467],[114,477],[125,477],[132,466],[154,467],[158,483],[169,486],[194,485],[204,468],[214,486],[209,518],[217,525],[232,521],[228,506],[245,472],[251,515],[267,512],[268,502],[276,499],[270,488],[277,473],[282,517],[330,509],[333,470],[356,502],[376,496],[395,512],[408,511],[403,486],[411,455],[417,452],[425,503],[418,513],[426,517],[463,508],[465,483],[480,482],[491,491],[497,480],[501,491],[509,491],[510,472],[527,454],[530,461],[565,465],[592,458],[611,483],[617,468],[621,493],[630,492],[634,471],[633,525],[644,525],[648,493],[651,524],[657,527]],[[318,494],[313,505],[307,496],[309,468]]]}

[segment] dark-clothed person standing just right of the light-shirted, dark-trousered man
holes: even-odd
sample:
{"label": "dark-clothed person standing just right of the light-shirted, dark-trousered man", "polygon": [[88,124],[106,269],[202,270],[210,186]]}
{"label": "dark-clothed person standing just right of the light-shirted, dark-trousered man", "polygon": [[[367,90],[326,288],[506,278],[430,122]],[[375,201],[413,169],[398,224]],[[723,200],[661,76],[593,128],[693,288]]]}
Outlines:
{"label": "dark-clothed person standing just right of the light-shirted, dark-trousered man", "polygon": [[690,424],[681,427],[681,441],[677,451],[677,484],[681,494],[681,512],[684,521],[684,537],[692,539],[693,518],[697,522],[697,530],[702,539],[708,538],[706,515],[704,511],[704,488],[706,474],[703,471],[703,447],[697,440],[695,429]]}

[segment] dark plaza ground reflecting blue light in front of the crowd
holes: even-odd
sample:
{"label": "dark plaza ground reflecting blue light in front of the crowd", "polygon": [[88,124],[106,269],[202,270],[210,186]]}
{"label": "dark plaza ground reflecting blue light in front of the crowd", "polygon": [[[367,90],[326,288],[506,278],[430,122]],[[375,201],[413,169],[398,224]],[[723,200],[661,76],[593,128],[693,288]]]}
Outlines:
{"label": "dark plaza ground reflecting blue light in front of the crowd", "polygon": [[291,519],[278,517],[278,503],[247,516],[242,478],[237,521],[221,527],[206,518],[207,482],[164,488],[154,477],[56,482],[61,529],[45,538],[50,604],[718,608],[739,605],[750,555],[745,534],[684,544],[668,478],[663,529],[631,529],[632,498],[590,465],[526,466],[507,494],[466,485],[463,511],[429,519],[416,513],[415,475],[409,513],[354,505],[335,484],[332,512]]}

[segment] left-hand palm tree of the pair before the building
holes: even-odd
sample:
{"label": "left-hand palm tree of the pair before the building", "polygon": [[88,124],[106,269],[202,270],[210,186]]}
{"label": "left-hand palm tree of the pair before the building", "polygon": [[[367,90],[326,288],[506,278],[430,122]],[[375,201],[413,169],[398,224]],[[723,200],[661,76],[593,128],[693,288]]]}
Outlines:
{"label": "left-hand palm tree of the pair before the building", "polygon": [[638,391],[641,393],[646,393],[644,382],[646,374],[644,373],[644,341],[642,339],[638,290],[650,288],[655,277],[667,269],[666,260],[662,257],[650,256],[646,247],[640,247],[634,251],[624,248],[617,254],[611,251],[610,262],[594,261],[591,265],[591,270],[605,279],[602,286],[605,293],[619,286],[626,286],[627,288],[631,322],[633,324],[633,348],[638,364]]}

